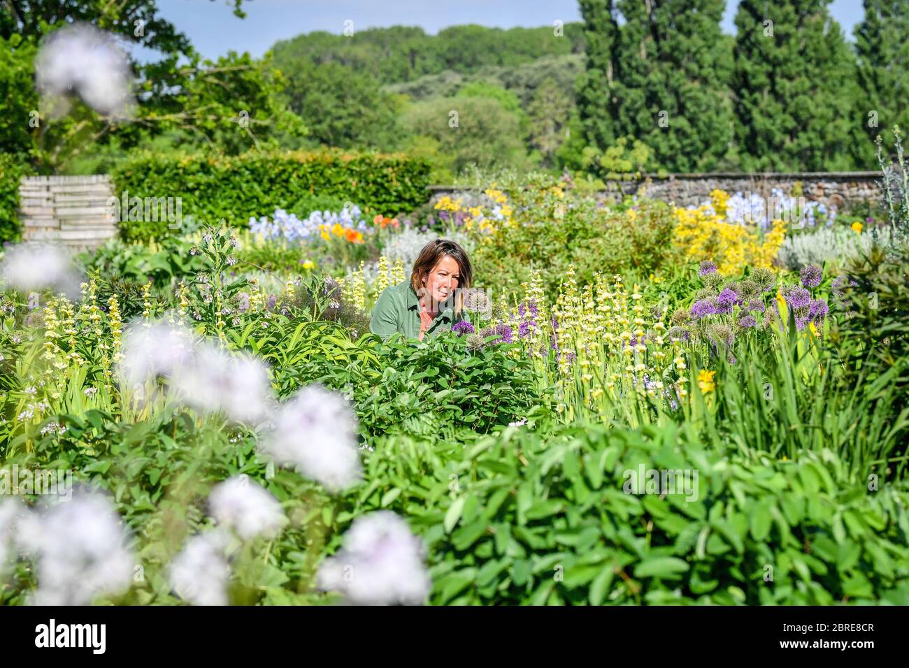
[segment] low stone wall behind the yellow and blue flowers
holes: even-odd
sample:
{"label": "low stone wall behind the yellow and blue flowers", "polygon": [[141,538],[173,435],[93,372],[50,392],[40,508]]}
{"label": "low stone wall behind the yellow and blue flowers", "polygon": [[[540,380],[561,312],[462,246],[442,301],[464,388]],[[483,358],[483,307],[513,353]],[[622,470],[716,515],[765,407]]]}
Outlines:
{"label": "low stone wall behind the yellow and blue flowers", "polygon": [[[719,189],[729,194],[736,192],[757,193],[765,198],[774,188],[784,194],[794,194],[800,185],[802,196],[827,206],[842,208],[844,204],[861,201],[879,201],[880,172],[803,172],[795,174],[669,174],[650,176],[629,181],[609,181],[604,194],[634,194],[644,192],[677,206],[702,204],[710,199],[710,191]],[[459,189],[451,186],[433,186],[434,198],[452,194]]]}

